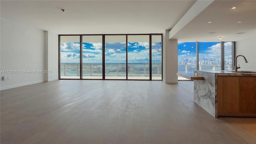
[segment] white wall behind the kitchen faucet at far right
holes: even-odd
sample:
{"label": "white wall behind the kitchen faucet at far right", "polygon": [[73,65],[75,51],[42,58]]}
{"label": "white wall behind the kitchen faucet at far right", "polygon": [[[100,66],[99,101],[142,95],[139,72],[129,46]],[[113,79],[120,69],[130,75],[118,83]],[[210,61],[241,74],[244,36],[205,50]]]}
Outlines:
{"label": "white wall behind the kitchen faucet at far right", "polygon": [[256,30],[255,36],[249,39],[236,42],[236,56],[242,54],[246,57],[248,63],[245,63],[244,58],[237,58],[237,65],[240,65],[238,70],[256,70]]}

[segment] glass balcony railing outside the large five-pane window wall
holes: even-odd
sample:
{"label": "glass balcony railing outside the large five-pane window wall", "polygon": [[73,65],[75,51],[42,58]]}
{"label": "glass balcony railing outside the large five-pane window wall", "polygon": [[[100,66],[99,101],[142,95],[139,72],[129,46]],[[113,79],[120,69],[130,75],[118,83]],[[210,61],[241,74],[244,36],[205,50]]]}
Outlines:
{"label": "glass balcony railing outside the large five-pane window wall", "polygon": [[[83,76],[102,76],[102,64],[82,64]],[[60,66],[61,76],[80,76],[80,64]],[[126,76],[126,64],[105,64],[105,76]],[[149,64],[128,64],[128,76],[149,76]],[[162,76],[162,64],[152,64],[152,76]]]}

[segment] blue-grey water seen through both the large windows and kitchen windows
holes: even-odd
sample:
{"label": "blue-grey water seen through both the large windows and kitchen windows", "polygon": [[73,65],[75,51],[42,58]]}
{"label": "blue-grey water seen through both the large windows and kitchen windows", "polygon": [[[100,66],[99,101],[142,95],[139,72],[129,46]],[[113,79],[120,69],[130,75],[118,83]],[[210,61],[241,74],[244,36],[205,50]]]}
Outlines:
{"label": "blue-grey water seen through both the large windows and kitchen windows", "polygon": [[[66,75],[79,76],[80,64],[65,64]],[[214,70],[214,65],[200,65],[201,70]],[[231,65],[225,65],[225,70],[230,70]],[[118,72],[117,72],[118,68]],[[196,64],[188,64],[187,72],[193,73]],[[215,70],[220,70],[220,65],[215,65]],[[159,73],[159,75],[158,75]],[[186,73],[186,65],[178,64],[178,73]],[[149,76],[149,64],[128,64],[128,75]],[[61,64],[61,75],[64,75],[64,64]],[[102,64],[83,64],[84,76],[102,76]],[[126,64],[105,64],[106,76],[126,76]],[[152,76],[162,75],[162,64],[152,64]]]}

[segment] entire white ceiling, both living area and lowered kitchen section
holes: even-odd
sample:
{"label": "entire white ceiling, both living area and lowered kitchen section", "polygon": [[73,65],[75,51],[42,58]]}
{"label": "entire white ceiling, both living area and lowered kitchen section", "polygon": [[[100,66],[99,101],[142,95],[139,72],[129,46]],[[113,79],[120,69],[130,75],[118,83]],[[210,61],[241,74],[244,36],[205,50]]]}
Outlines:
{"label": "entire white ceiling, both living area and lowered kitchen section", "polygon": [[[1,0],[1,17],[56,34],[148,34],[172,29],[196,0]],[[231,10],[231,6],[237,9]],[[61,9],[65,9],[62,14]],[[237,23],[242,20],[242,23]],[[212,21],[211,24],[207,24]],[[209,35],[208,32],[217,32]],[[246,32],[245,34],[235,34]],[[256,36],[255,0],[215,0],[172,38],[243,40]]]}

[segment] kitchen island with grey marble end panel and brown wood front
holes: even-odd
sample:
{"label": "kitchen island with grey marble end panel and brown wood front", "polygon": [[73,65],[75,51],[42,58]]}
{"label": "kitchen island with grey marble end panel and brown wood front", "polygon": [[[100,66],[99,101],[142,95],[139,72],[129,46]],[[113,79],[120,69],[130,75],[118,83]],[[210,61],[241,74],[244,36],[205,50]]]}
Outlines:
{"label": "kitchen island with grey marble end panel and brown wood front", "polygon": [[194,102],[218,116],[256,117],[256,71],[200,71],[194,75]]}

